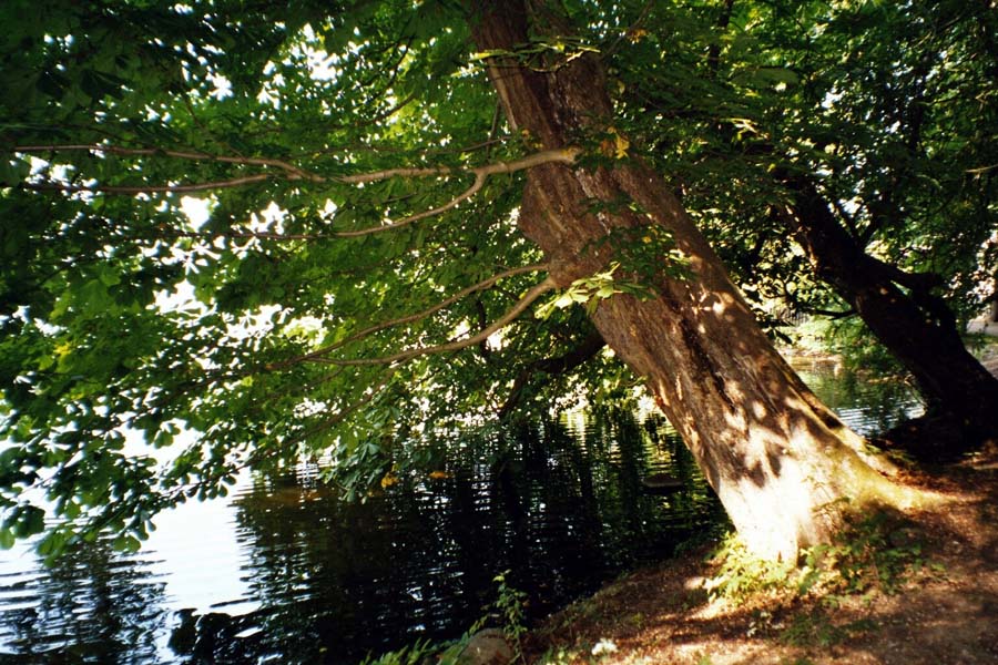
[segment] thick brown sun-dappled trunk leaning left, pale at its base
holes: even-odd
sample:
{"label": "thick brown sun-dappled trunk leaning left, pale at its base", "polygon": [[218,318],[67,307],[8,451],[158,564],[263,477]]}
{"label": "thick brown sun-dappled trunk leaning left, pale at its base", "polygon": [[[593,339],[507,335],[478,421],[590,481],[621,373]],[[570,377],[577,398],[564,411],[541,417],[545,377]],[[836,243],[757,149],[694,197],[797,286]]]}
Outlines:
{"label": "thick brown sun-dappled trunk leaning left, pale at its base", "polygon": [[[557,16],[534,4],[541,3],[528,10],[519,0],[480,0],[471,21],[478,47],[516,52],[528,41],[528,20],[538,29],[557,24]],[[595,59],[536,64],[525,66],[516,55],[489,59],[492,83],[518,133],[559,149],[570,137],[611,126]],[[593,212],[600,207],[593,202],[609,205]],[[593,168],[549,164],[528,176],[520,228],[544,252],[561,286],[619,258],[601,243],[612,231],[650,225],[672,234],[690,275],[660,273],[650,299],[602,300],[593,323],[644,378],[748,546],[765,556],[794,557],[802,546],[827,542],[847,504],[908,501],[909,494],[864,461],[862,439],[776,352],[662,177],[638,158]]]}

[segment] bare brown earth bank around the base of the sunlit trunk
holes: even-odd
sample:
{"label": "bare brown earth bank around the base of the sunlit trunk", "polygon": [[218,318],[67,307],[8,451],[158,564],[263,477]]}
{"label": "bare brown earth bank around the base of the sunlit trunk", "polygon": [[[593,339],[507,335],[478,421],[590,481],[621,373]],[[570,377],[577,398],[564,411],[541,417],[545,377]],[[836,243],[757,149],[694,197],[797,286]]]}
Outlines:
{"label": "bare brown earth bank around the base of the sunlit trunk", "polygon": [[904,481],[940,501],[908,515],[904,536],[917,541],[926,564],[893,594],[710,601],[702,583],[714,571],[702,549],[549,617],[526,643],[527,661],[998,664],[998,448]]}

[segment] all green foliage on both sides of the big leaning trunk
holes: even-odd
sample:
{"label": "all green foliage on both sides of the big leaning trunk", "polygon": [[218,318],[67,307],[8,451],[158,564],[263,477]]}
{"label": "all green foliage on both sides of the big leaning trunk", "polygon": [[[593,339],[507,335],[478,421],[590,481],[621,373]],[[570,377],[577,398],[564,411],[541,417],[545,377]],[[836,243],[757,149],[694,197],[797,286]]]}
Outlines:
{"label": "all green foliage on both sides of the big leaning trunk", "polygon": [[[979,304],[989,2],[564,6],[577,31],[518,54],[615,76],[620,123],[582,158],[648,151],[760,306],[835,307],[772,214],[788,171]],[[572,306],[622,287],[546,295],[517,232],[523,171],[563,155],[506,125],[461,3],[0,17],[0,544],[48,507],[47,552],[99,529],[135,548],[244,466],[323,456],[370,482],[420,428],[633,380]]]}

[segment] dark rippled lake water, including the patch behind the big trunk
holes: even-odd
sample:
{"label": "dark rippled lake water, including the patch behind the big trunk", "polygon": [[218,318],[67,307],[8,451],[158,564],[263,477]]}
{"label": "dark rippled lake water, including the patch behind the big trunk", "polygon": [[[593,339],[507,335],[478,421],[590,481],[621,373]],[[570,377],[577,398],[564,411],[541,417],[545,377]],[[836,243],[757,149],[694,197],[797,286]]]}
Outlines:
{"label": "dark rippled lake water, including the patch behind the big trunk", "polygon": [[[904,387],[802,374],[862,431],[917,408]],[[356,663],[459,635],[502,571],[542,615],[724,520],[654,416],[576,413],[430,448],[436,473],[364,503],[302,467],[162,515],[134,555],[98,543],[45,569],[29,546],[0,553],[0,664]],[[454,448],[462,461],[445,463]],[[659,471],[684,487],[648,493]]]}

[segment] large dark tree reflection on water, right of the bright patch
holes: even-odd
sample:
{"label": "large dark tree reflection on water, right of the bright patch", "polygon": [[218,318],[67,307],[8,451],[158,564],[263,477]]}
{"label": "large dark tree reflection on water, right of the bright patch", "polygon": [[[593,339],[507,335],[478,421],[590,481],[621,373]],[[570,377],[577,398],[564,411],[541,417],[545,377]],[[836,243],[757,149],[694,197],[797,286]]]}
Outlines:
{"label": "large dark tree reflection on water, right of the bright patch", "polygon": [[[187,654],[349,663],[417,637],[452,637],[482,614],[503,570],[543,613],[668,556],[720,518],[695,467],[672,463],[685,450],[663,437],[663,421],[590,422],[462,434],[442,442],[466,451],[446,471],[400,474],[363,504],[337,501],[308,469],[258,480],[234,505],[243,575],[261,606],[227,622],[197,620]],[[666,467],[685,489],[644,493],[640,477]]]}

